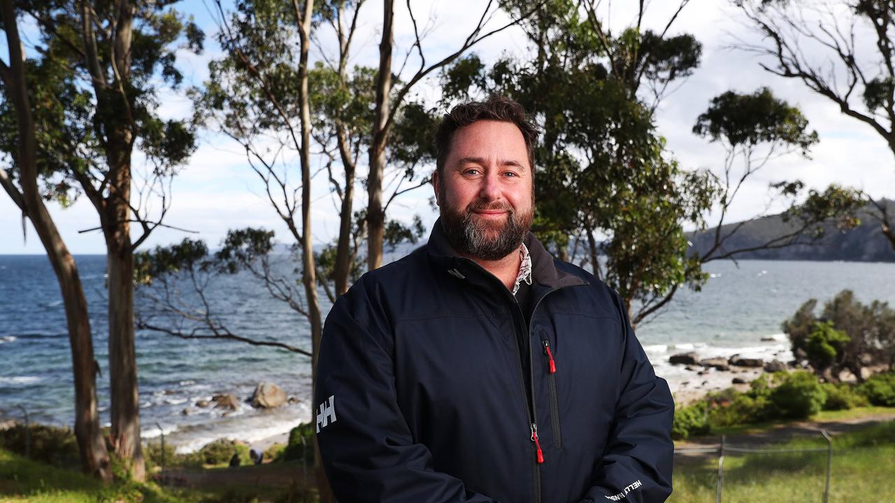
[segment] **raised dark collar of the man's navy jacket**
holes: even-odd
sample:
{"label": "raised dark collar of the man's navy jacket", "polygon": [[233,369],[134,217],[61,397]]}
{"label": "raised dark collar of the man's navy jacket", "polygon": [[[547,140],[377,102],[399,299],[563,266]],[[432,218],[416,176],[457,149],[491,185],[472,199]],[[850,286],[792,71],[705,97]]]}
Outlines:
{"label": "raised dark collar of the man's navy jacket", "polygon": [[[532,257],[532,279],[535,283],[549,286],[550,288],[587,285],[587,281],[581,277],[557,269],[553,256],[550,255],[550,252],[547,252],[541,242],[534,237],[534,234],[528,233],[523,241],[528,248],[529,255]],[[485,269],[482,269],[482,267],[476,264],[473,260],[461,257],[460,254],[454,250],[454,247],[447,241],[447,235],[445,235],[444,230],[441,227],[440,217],[435,221],[435,225],[432,226],[432,232],[429,235],[429,243],[426,244],[426,252],[429,253],[436,266],[446,269],[448,273],[454,276],[456,276],[456,273],[458,272],[456,268],[461,264],[466,266],[463,268],[466,270],[468,270],[470,264],[472,264],[475,268],[485,271]]]}

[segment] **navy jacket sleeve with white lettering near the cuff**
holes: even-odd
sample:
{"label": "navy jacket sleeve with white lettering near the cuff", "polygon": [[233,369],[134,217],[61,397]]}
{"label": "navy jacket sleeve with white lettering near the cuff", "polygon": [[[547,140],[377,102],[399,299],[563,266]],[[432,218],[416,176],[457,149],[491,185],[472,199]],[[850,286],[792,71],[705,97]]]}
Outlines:
{"label": "navy jacket sleeve with white lettering near the cuff", "polygon": [[593,485],[583,503],[661,503],[671,494],[674,400],[637,341],[618,294],[625,337],[615,418]]}

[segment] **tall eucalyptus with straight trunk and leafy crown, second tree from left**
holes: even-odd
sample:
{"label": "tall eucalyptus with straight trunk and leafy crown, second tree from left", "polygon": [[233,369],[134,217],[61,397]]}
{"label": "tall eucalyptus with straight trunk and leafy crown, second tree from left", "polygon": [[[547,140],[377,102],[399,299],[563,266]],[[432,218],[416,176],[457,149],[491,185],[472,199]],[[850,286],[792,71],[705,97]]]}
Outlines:
{"label": "tall eucalyptus with straight trunk and leafy crown, second tree from left", "polygon": [[[201,31],[169,3],[33,0],[18,4],[36,23],[38,68],[47,79],[30,90],[56,109],[60,123],[40,124],[38,149],[46,174],[64,173],[54,191],[63,200],[83,194],[96,209],[107,248],[110,443],[127,473],[145,477],[133,325],[133,252],[162,222],[169,183],[194,149],[192,126],[158,114],[159,91],[182,81],[175,51],[201,50]],[[26,68],[26,72],[28,68]],[[64,85],[61,94],[48,86]],[[58,130],[58,131],[56,131]],[[149,168],[133,175],[140,151]],[[136,190],[134,190],[136,189]],[[152,214],[149,201],[160,200]],[[132,223],[141,234],[132,240]]]}

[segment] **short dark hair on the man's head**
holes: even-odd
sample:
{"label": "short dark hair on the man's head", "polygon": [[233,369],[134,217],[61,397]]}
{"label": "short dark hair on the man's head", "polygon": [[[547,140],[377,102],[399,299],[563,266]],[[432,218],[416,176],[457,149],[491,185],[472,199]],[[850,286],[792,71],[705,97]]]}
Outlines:
{"label": "short dark hair on the man's head", "polygon": [[538,126],[529,120],[522,105],[512,99],[492,94],[486,101],[471,101],[457,105],[441,120],[439,129],[435,132],[435,168],[439,175],[444,172],[447,152],[450,151],[451,141],[454,139],[456,130],[477,121],[500,121],[516,124],[525,140],[528,164],[534,171],[534,141],[538,137]]}

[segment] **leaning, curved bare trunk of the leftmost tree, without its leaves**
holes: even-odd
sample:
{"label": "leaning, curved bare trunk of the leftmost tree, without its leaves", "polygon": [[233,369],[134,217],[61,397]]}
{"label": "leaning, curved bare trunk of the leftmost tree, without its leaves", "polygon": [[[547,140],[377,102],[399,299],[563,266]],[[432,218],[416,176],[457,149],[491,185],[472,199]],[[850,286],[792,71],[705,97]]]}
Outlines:
{"label": "leaning, curved bare trunk of the leftmost tree, without its leaves", "polygon": [[9,66],[3,69],[3,80],[7,96],[15,107],[18,122],[17,165],[22,193],[15,192],[13,184],[5,178],[3,185],[13,200],[20,205],[22,212],[30,218],[59,282],[65,308],[65,321],[68,325],[69,344],[72,346],[74,435],[78,440],[81,469],[103,481],[110,481],[112,472],[109,469],[109,456],[99,430],[96,384],[98,366],[93,356],[87,299],[74,258],[65,246],[38,191],[37,138],[25,80],[21,38],[11,0],[3,1],[0,14],[4,21],[10,55]]}

